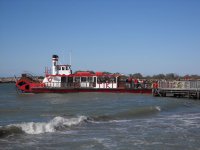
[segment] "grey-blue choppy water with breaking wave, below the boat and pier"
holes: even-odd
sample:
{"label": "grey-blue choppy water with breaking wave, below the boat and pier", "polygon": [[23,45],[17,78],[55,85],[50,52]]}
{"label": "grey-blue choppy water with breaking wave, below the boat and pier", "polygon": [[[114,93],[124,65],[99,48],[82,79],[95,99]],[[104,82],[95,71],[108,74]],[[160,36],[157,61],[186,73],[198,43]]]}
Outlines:
{"label": "grey-blue choppy water with breaking wave, below the boat and pier", "polygon": [[200,101],[0,84],[0,149],[200,150]]}

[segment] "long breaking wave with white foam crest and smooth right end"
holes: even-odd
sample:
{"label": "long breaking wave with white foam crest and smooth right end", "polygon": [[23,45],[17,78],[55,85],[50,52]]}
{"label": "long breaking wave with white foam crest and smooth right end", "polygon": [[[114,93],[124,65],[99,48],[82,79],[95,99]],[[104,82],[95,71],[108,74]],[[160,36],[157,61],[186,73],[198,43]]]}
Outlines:
{"label": "long breaking wave with white foam crest and smooth right end", "polygon": [[100,116],[78,116],[72,118],[55,117],[49,122],[27,122],[20,124],[10,124],[4,127],[0,126],[0,138],[7,137],[14,134],[42,134],[51,133],[58,130],[66,129],[71,126],[76,126],[82,122],[98,122],[98,121],[120,121],[126,120],[134,117],[141,117],[151,115],[153,113],[161,111],[159,106],[155,107],[143,107],[137,109],[131,109],[124,112],[119,112],[116,114],[100,115]]}

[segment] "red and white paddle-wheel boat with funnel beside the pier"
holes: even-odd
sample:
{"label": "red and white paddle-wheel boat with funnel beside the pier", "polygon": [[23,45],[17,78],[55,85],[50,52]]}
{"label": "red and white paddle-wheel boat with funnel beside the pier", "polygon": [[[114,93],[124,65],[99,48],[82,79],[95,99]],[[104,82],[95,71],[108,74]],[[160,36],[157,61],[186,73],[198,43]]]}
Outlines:
{"label": "red and white paddle-wheel boat with funnel beside the pier", "polygon": [[77,71],[72,73],[71,65],[60,65],[58,55],[52,56],[51,70],[45,68],[42,81],[22,74],[16,81],[21,93],[75,93],[75,92],[116,92],[152,93],[151,85],[144,80],[132,79],[119,73]]}

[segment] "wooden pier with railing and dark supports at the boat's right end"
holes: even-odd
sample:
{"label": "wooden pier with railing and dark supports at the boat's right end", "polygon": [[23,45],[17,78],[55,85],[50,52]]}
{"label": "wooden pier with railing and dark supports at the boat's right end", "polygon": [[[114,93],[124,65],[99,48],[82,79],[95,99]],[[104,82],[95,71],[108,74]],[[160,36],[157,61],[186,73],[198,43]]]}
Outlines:
{"label": "wooden pier with railing and dark supports at the boat's right end", "polygon": [[153,95],[200,99],[200,81],[158,81]]}

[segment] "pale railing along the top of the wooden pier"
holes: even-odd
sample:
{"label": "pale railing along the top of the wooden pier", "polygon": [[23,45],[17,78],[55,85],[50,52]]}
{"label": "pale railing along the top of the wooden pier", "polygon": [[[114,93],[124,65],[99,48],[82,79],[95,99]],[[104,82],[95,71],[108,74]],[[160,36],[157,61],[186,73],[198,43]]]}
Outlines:
{"label": "pale railing along the top of the wooden pier", "polygon": [[158,81],[159,89],[199,90],[200,81]]}

